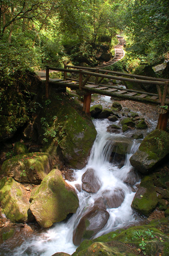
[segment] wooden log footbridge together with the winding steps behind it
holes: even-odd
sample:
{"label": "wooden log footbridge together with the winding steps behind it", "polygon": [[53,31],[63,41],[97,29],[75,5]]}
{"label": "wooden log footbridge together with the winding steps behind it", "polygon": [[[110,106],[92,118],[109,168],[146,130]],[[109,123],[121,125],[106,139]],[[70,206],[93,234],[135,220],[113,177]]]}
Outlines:
{"label": "wooden log footbridge together with the winding steps behind it", "polygon": [[[167,98],[167,94],[169,94],[169,79],[159,79],[155,77],[126,74],[103,69],[105,67],[113,65],[115,62],[119,61],[124,57],[124,51],[122,47],[125,41],[120,35],[117,35],[117,37],[119,40],[119,44],[115,46],[115,57],[100,66],[97,66],[95,68],[70,65],[64,65],[64,68],[54,68],[47,66],[45,82],[46,98],[49,99],[50,97],[51,87],[60,87],[62,89],[65,88],[65,90],[66,87],[75,89],[78,95],[84,96],[83,111],[87,115],[90,115],[91,94],[94,93],[119,99],[157,104],[160,105],[160,114],[158,118],[157,128],[165,130],[169,115],[168,108],[166,107],[166,105],[169,105],[169,98]],[[118,52],[118,50],[120,52]],[[64,72],[64,79],[49,79],[49,70]],[[72,76],[73,74],[76,74],[76,78]],[[92,81],[95,82],[89,81],[90,77],[92,77]],[[104,78],[109,79],[110,81],[119,80],[130,83],[134,82],[138,84],[149,84],[157,88],[157,94],[127,88],[124,89],[114,83],[112,83],[112,85],[103,84],[101,83],[101,81]]]}

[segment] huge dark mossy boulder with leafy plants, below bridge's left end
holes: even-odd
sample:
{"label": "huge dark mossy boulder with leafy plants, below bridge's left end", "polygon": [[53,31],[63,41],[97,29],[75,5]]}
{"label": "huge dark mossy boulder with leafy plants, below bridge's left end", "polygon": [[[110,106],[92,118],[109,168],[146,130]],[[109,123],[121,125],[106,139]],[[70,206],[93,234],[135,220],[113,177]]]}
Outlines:
{"label": "huge dark mossy boulder with leafy plants, below bridge's left end", "polygon": [[53,158],[59,156],[69,168],[81,169],[86,165],[97,132],[82,106],[68,94],[53,93],[34,125],[43,152]]}

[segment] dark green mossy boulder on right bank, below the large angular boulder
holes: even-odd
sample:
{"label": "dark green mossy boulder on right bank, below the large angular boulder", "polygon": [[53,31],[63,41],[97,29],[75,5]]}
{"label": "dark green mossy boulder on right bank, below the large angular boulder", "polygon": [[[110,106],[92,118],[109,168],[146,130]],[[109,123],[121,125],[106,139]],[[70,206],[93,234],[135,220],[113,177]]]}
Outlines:
{"label": "dark green mossy boulder on right bank, below the large angular boulder", "polygon": [[158,203],[152,178],[145,176],[134,196],[131,207],[139,213],[149,216]]}

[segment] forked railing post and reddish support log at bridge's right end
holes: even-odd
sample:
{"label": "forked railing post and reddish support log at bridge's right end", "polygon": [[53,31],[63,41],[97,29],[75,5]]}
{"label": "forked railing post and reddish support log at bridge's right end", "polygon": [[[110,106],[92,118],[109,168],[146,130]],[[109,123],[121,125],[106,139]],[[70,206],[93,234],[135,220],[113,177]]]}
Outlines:
{"label": "forked railing post and reddish support log at bridge's right end", "polygon": [[160,95],[159,99],[161,100],[160,106],[162,106],[160,111],[162,113],[159,114],[158,124],[157,124],[156,129],[160,129],[160,130],[163,130],[163,131],[165,131],[165,129],[166,129],[167,121],[168,121],[168,116],[169,116],[169,111],[168,110],[165,111],[165,109],[163,109],[163,106],[165,105],[167,91],[168,91],[168,82],[166,81],[165,82],[165,86],[164,86],[163,96],[161,94],[160,89],[158,88],[158,96]]}

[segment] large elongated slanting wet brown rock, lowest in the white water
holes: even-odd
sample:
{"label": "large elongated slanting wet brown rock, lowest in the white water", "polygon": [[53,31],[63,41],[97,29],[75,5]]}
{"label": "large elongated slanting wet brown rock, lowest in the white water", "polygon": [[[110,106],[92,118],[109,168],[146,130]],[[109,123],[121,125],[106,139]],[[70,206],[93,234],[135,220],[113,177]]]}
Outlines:
{"label": "large elongated slanting wet brown rock, lowest in the white water", "polygon": [[79,245],[85,239],[91,239],[107,223],[109,213],[104,209],[94,208],[83,216],[73,231],[73,243]]}

